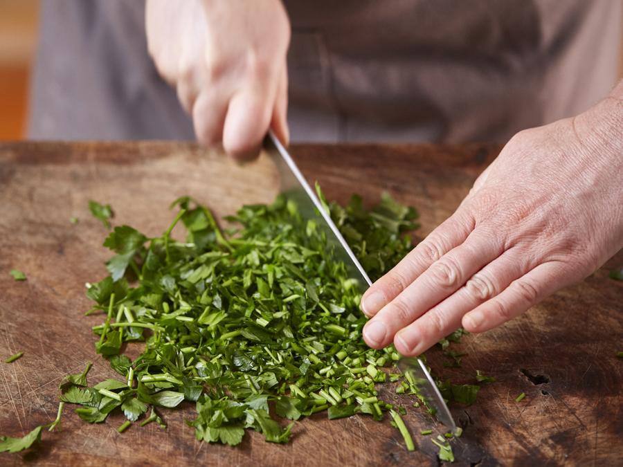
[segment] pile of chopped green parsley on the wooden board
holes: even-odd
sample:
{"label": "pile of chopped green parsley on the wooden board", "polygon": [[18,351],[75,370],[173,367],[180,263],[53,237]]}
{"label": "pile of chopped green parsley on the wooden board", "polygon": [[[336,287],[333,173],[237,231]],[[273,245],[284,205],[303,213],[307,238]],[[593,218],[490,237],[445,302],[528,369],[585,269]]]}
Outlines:
{"label": "pile of chopped green parsley on the wooden board", "polygon": [[[383,193],[371,212],[359,196],[341,208],[318,194],[372,280],[413,248],[403,234],[417,227],[417,213],[389,194]],[[102,212],[98,206],[91,202],[91,210],[107,222],[110,207]],[[87,284],[87,295],[96,302],[87,314],[106,317],[93,327],[100,336],[96,349],[123,381],[86,387],[87,367],[65,378],[61,400],[80,404],[75,412],[91,423],[120,408],[128,419],[120,432],[147,412],[147,405],[151,414],[141,425],[156,421],[164,427],[154,407],[192,401],[197,416],[187,423],[197,439],[230,445],[242,441],[246,428],[267,441],[288,441],[294,422],[282,428],[271,419],[269,401],[278,416],[293,421],[324,410],[329,419],[362,412],[381,420],[390,411],[392,425],[413,450],[395,407],[380,401],[374,388],[386,382],[382,368],[399,355],[393,346],[365,345],[361,296],[345,266],[325,248],[318,225],[303,221],[296,205],[282,196],[272,205],[244,206],[227,218],[242,228],[224,232],[197,201],[183,197],[173,207],[179,214],[161,237],[147,238],[129,226],[114,228],[104,243],[116,253],[107,262],[110,275]],[[179,221],[186,241],[170,237]],[[443,349],[463,332],[442,340]],[[120,354],[129,341],[145,342],[134,360]],[[460,366],[464,354],[446,355],[455,360],[449,366]],[[398,381],[401,375],[389,377]],[[482,378],[478,381],[492,379]],[[446,400],[475,400],[478,386],[437,379]],[[403,381],[397,392],[417,394],[411,383]],[[449,445],[442,450],[451,456]]]}

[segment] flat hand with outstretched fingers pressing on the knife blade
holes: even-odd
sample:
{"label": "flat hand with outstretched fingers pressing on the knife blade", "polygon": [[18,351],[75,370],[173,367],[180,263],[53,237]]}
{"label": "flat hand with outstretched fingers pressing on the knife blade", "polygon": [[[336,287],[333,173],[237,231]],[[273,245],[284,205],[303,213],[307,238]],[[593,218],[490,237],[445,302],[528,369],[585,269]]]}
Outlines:
{"label": "flat hand with outstretched fingers pressing on the knife blade", "polygon": [[455,214],[363,295],[365,342],[415,356],[461,325],[487,331],[620,250],[621,102],[514,136]]}

